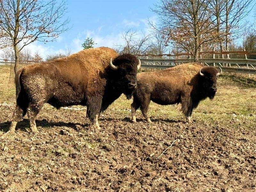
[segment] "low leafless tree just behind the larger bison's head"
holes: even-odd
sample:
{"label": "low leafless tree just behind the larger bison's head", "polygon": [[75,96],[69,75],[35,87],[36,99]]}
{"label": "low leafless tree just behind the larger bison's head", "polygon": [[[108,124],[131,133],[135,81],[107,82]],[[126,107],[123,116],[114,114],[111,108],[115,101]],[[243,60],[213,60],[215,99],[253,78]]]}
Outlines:
{"label": "low leafless tree just behind the larger bison's head", "polygon": [[136,30],[129,29],[122,34],[124,40],[123,45],[115,45],[118,52],[139,54],[151,50],[152,44],[150,41],[151,35],[146,35]]}

